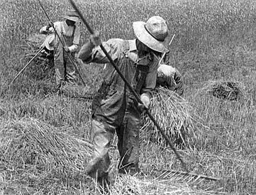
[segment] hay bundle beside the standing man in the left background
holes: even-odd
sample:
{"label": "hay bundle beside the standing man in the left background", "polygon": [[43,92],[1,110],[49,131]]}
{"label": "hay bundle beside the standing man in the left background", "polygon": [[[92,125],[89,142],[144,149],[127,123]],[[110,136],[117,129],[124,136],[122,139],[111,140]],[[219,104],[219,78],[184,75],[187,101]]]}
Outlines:
{"label": "hay bundle beside the standing man in the left background", "polygon": [[[28,39],[25,40],[25,55],[21,60],[26,62],[31,60],[31,58],[39,51],[45,38],[46,36],[42,34],[33,34],[28,37]],[[51,77],[54,72],[53,51],[49,51],[46,48],[43,49],[41,54],[32,62],[28,69],[26,75],[30,78],[42,80]]]}

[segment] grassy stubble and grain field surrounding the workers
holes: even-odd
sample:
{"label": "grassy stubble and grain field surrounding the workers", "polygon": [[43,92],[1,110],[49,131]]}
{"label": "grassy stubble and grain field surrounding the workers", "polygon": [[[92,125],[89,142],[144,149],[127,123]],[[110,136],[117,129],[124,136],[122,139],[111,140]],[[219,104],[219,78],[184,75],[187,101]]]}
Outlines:
{"label": "grassy stubble and grain field surrounding the workers", "polygon": [[[181,176],[157,178],[159,171],[155,169],[182,167],[171,149],[141,140],[141,178],[121,179],[117,175],[118,153],[113,146],[112,194],[255,195],[255,1],[76,3],[92,27],[100,30],[103,40],[134,38],[133,21],[146,21],[154,15],[166,19],[171,33],[176,35],[170,62],[184,76],[184,97],[199,121],[195,121],[196,137],[190,147],[178,151],[189,170],[221,178],[219,182],[204,180],[200,184]],[[61,0],[46,0],[43,4],[54,21],[61,20],[61,15],[71,8]],[[83,170],[90,153],[90,99],[55,95],[51,71],[37,64],[32,64],[9,88],[11,80],[28,62],[24,56],[32,48],[26,39],[47,24],[47,19],[35,1],[1,0],[0,9],[0,194],[88,194],[93,191],[93,183]],[[88,35],[82,25],[81,44]],[[84,65],[81,69],[90,87],[87,93],[91,94],[99,85],[102,65]],[[217,99],[204,90],[207,82],[213,80],[239,82],[246,95],[238,101]],[[36,134],[40,130],[47,130],[48,134]],[[51,140],[49,149],[47,138]],[[61,138],[59,142],[57,138]],[[79,152],[83,151],[80,145],[88,147],[88,154]],[[51,151],[54,147],[63,150]],[[73,156],[66,156],[65,151]],[[60,154],[63,155],[58,159]],[[58,164],[60,161],[63,163]]]}

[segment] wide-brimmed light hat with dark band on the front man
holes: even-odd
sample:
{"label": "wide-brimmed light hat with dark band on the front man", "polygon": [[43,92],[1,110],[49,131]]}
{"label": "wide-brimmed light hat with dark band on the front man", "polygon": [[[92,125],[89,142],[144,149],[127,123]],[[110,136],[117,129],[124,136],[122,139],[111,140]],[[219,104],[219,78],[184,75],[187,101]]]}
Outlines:
{"label": "wide-brimmed light hat with dark band on the front man", "polygon": [[133,22],[135,36],[146,46],[157,52],[168,52],[166,37],[169,34],[166,22],[160,16],[153,16],[147,22]]}

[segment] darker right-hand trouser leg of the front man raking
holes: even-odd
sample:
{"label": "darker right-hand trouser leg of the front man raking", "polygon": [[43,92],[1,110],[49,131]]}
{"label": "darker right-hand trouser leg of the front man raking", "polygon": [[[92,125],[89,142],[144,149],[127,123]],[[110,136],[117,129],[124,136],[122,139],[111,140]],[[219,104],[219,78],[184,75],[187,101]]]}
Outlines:
{"label": "darker right-hand trouser leg of the front man raking", "polygon": [[128,109],[118,133],[120,152],[119,172],[135,174],[139,171],[139,128],[140,113],[137,109]]}

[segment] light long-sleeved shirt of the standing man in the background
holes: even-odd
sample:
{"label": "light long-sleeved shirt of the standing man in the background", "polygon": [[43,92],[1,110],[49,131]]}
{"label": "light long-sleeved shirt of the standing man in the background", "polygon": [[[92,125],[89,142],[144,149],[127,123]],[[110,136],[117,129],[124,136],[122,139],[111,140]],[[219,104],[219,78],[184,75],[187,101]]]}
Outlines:
{"label": "light long-sleeved shirt of the standing man in the background", "polygon": [[[68,26],[65,21],[58,21],[53,23],[54,28],[57,30],[59,35],[63,33],[63,35],[67,37],[74,36],[73,45],[69,46],[70,52],[75,52],[78,49],[79,41],[80,41],[80,27],[76,24],[76,26]],[[75,28],[75,30],[74,30]],[[74,32],[73,32],[74,31]],[[47,26],[44,26],[40,29],[40,33],[55,33],[54,29],[50,27],[47,30]],[[57,38],[57,37],[56,37]]]}

